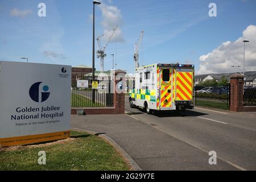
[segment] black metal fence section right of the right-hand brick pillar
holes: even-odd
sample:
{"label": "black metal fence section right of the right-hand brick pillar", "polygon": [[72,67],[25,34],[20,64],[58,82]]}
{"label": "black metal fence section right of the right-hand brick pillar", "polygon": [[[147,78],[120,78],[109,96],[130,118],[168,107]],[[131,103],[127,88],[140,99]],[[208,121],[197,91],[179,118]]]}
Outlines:
{"label": "black metal fence section right of the right-hand brick pillar", "polygon": [[243,105],[256,106],[256,81],[245,81],[243,85]]}

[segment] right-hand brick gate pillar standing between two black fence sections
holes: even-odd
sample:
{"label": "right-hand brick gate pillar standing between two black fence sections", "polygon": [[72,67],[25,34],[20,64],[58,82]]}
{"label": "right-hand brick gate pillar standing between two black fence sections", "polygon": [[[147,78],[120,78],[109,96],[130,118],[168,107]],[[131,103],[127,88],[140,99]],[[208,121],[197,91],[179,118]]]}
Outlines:
{"label": "right-hand brick gate pillar standing between two black fence sections", "polygon": [[230,76],[230,110],[243,111],[243,76],[240,74]]}

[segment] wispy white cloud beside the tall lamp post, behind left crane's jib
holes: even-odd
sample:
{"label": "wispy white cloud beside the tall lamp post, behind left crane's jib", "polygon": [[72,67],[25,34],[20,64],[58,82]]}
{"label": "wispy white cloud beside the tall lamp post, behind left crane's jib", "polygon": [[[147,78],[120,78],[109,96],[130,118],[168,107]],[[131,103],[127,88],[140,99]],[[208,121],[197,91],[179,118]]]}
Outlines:
{"label": "wispy white cloud beside the tall lamp post, behind left crane's jib", "polygon": [[113,42],[124,42],[122,33],[122,14],[116,6],[108,6],[104,3],[100,6],[101,13],[103,16],[102,26],[104,28],[104,39],[107,40],[113,32],[113,28],[118,26],[115,31],[112,41]]}

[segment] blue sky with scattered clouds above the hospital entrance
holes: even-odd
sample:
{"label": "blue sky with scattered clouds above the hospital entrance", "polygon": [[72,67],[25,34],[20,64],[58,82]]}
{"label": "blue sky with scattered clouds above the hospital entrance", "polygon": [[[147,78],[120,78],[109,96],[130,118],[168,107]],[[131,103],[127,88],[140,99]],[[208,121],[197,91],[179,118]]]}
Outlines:
{"label": "blue sky with scattered clouds above the hospital entrance", "polygon": [[[104,0],[95,9],[95,35],[106,48],[105,70],[134,72],[134,44],[144,31],[139,63],[195,64],[196,74],[256,71],[255,0]],[[46,16],[39,16],[39,3]],[[215,3],[217,16],[210,3]],[[0,61],[92,65],[89,0],[0,0]],[[95,41],[96,50],[97,41]],[[100,70],[100,59],[95,59]]]}

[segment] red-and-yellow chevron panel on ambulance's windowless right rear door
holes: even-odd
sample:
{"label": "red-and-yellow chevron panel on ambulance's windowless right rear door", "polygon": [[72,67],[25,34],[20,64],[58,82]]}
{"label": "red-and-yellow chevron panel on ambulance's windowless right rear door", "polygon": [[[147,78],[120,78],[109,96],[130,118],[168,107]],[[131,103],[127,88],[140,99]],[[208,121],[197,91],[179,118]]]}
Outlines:
{"label": "red-and-yellow chevron panel on ambulance's windowless right rear door", "polygon": [[192,72],[176,73],[176,100],[192,100]]}

